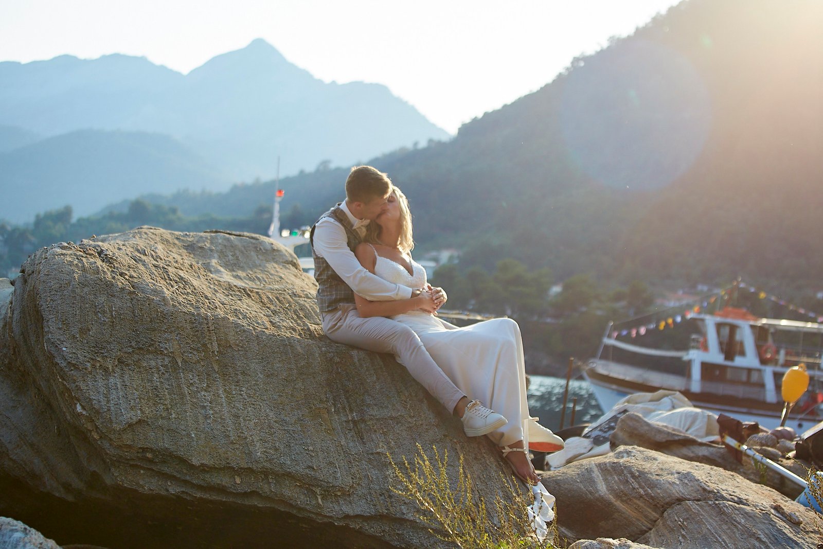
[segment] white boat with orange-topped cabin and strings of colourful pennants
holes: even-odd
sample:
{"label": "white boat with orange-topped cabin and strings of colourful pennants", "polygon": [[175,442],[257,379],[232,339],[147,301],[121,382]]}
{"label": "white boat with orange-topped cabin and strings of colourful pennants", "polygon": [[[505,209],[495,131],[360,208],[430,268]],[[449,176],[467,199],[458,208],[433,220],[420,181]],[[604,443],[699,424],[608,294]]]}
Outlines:
{"label": "white boat with orange-topped cabin and strings of colourful pennants", "polygon": [[679,391],[695,407],[771,429],[779,426],[783,412],[783,375],[802,363],[809,388],[786,425],[802,433],[823,421],[823,324],[760,319],[731,307],[690,319],[697,329],[689,348],[681,351],[630,343],[610,324],[597,358],[584,369],[603,410],[628,394],[663,388]]}

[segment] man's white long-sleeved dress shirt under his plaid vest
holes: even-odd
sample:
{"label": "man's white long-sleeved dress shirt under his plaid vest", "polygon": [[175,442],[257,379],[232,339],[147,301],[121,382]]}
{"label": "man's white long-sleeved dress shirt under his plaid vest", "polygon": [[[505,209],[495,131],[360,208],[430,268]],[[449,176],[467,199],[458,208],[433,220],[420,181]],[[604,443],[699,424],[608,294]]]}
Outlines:
{"label": "man's white long-sleeved dress shirt under his plaid vest", "polygon": [[[365,230],[368,221],[364,223],[352,216],[345,200],[340,209],[346,213],[351,226],[356,227],[358,234]],[[355,254],[349,249],[346,230],[332,216],[323,217],[314,226],[314,253],[328,261],[334,272],[337,272],[337,276],[341,277],[357,295],[362,295],[367,300],[407,300],[412,297],[412,288],[376,277],[360,265]]]}

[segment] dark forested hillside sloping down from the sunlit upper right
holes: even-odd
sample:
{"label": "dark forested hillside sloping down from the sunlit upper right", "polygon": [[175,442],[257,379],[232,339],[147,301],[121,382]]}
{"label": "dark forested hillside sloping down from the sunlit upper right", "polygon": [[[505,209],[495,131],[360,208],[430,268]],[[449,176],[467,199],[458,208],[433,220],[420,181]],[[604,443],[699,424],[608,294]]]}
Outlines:
{"label": "dark forested hillside sloping down from the sunlit upper right", "polygon": [[[463,249],[466,268],[816,286],[821,28],[813,0],[682,2],[453,140],[370,162],[411,199],[421,246]],[[345,175],[283,179],[285,211],[314,221]],[[164,202],[248,215],[273,189]]]}

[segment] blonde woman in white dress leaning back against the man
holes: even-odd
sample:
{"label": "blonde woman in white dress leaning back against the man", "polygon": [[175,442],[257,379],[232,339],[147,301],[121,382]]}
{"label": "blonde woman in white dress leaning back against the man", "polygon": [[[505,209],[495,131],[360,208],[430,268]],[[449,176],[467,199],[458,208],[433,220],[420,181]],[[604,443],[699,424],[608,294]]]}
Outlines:
{"label": "blonde woman in white dress leaning back against the man", "polygon": [[[387,206],[369,224],[355,255],[378,277],[412,288],[425,287],[425,269],[410,254],[414,247],[412,215],[399,188],[393,187]],[[395,314],[398,304],[390,301],[370,301],[357,294],[355,301],[361,317],[388,316],[412,328],[453,384],[506,417],[508,423],[486,436],[500,447],[523,482],[540,481],[528,459],[528,448],[552,452],[564,443],[529,416],[523,342],[514,320],[492,319],[458,328],[423,310]]]}

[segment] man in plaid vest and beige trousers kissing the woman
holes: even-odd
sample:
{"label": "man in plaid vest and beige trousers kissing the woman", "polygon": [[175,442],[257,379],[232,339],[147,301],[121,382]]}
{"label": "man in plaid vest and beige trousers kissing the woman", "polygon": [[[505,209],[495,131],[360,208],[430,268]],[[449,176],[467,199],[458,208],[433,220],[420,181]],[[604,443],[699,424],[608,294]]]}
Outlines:
{"label": "man in plaid vest and beige trousers kissing the woman", "polygon": [[353,250],[365,235],[365,227],[386,211],[391,193],[392,182],[386,174],[371,166],[356,166],[346,179],[346,200],[320,216],[311,229],[323,332],[333,342],[392,353],[432,396],[462,419],[467,436],[486,435],[504,426],[506,419],[478,401],[469,402],[435,364],[412,328],[392,319],[362,319],[357,314],[354,292],[373,301],[424,295],[432,309],[439,305],[439,292],[376,277],[355,257]]}

